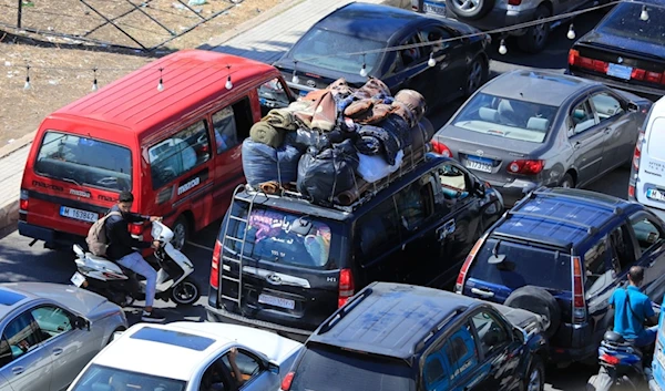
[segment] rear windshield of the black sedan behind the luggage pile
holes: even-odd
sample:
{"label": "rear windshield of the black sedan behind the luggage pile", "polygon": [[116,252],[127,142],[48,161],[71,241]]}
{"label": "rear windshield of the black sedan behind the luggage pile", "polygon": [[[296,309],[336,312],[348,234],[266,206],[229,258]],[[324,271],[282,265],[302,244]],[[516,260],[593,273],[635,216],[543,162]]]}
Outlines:
{"label": "rear windshield of the black sedan behind the luggage pile", "polygon": [[386,44],[386,42],[314,28],[300,39],[291,53],[294,60],[303,64],[346,73],[358,73],[362,68],[362,63],[365,63],[367,72],[371,72],[377,64],[379,53],[367,53],[365,56],[361,54],[331,54],[368,52],[383,49]]}

